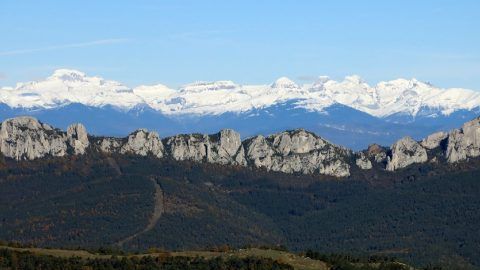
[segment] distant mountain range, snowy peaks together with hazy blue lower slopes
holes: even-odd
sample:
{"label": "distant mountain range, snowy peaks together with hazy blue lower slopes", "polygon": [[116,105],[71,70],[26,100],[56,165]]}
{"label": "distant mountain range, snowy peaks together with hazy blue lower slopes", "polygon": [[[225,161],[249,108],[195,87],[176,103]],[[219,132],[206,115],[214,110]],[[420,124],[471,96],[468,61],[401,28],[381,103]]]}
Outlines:
{"label": "distant mountain range, snowy peaks together with hazy blue lower slopes", "polygon": [[92,134],[115,136],[139,127],[161,136],[232,128],[242,137],[305,128],[353,149],[450,130],[478,116],[479,108],[477,91],[416,79],[370,86],[355,75],[303,85],[282,77],[264,85],[216,81],[172,89],[130,88],[59,69],[44,80],[0,88],[1,119],[32,115],[61,128],[82,122]]}

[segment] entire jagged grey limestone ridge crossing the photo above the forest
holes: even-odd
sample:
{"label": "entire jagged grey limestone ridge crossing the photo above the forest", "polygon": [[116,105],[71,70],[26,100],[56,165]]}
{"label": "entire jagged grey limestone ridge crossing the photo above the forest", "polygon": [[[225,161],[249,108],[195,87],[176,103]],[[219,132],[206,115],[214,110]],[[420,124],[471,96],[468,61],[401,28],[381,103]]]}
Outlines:
{"label": "entire jagged grey limestone ridge crossing the photo above the forest", "polygon": [[34,160],[84,155],[89,151],[348,177],[352,167],[370,170],[380,166],[396,171],[414,163],[456,163],[480,156],[480,118],[465,123],[461,129],[431,134],[420,142],[404,137],[390,148],[373,144],[358,152],[303,129],[241,141],[240,134],[231,129],[163,139],[156,132],[139,129],[126,138],[115,138],[90,136],[82,124],[61,131],[28,116],[1,123],[0,152],[8,158]]}

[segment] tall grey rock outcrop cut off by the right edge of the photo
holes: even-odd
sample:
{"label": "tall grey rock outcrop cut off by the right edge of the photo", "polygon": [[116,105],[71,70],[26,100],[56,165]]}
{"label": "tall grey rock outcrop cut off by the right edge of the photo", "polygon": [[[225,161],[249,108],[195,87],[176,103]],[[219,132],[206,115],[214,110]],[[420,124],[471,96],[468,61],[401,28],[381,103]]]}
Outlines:
{"label": "tall grey rock outcrop cut off by the right edge of the photo", "polygon": [[480,117],[465,123],[461,129],[450,132],[446,151],[450,163],[478,156],[480,156]]}

